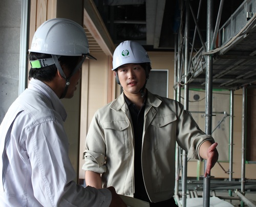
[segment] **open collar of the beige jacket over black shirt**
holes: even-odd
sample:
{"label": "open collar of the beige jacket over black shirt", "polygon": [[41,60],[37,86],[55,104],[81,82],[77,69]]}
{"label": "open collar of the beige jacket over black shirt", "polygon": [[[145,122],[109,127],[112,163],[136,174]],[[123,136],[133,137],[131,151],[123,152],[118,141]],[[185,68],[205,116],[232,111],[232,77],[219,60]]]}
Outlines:
{"label": "open collar of the beige jacket over black shirt", "polygon": [[[153,107],[159,107],[161,104],[162,100],[158,95],[152,94],[150,91],[147,91],[147,101],[146,105],[153,106]],[[124,94],[117,97],[111,105],[111,109],[118,111],[120,110],[123,106],[125,105],[125,99],[124,99]]]}

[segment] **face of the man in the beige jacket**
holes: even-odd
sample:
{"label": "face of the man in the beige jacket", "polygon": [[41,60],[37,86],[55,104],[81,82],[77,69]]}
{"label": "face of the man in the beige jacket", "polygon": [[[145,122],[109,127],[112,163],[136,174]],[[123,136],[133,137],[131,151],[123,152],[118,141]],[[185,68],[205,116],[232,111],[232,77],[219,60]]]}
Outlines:
{"label": "face of the man in the beige jacket", "polygon": [[139,93],[145,84],[145,69],[139,64],[124,64],[118,67],[117,73],[125,95]]}

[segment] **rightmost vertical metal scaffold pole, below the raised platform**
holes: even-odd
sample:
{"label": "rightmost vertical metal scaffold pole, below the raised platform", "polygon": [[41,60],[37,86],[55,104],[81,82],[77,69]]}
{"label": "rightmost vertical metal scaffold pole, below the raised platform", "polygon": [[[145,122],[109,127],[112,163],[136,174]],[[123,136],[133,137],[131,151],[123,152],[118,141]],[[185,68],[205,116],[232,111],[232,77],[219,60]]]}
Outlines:
{"label": "rightmost vertical metal scaffold pole, below the raised platform", "polygon": [[245,190],[246,87],[243,87],[241,193]]}

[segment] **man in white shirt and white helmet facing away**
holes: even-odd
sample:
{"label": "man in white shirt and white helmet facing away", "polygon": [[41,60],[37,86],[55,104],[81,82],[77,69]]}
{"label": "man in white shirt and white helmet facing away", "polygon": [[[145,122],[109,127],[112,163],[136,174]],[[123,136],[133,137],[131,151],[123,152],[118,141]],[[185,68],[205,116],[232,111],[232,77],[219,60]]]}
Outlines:
{"label": "man in white shirt and white helmet facing away", "polygon": [[73,97],[81,64],[93,58],[83,28],[69,19],[48,20],[29,51],[29,86],[0,126],[1,206],[126,206],[113,187],[83,188],[73,181],[60,98]]}

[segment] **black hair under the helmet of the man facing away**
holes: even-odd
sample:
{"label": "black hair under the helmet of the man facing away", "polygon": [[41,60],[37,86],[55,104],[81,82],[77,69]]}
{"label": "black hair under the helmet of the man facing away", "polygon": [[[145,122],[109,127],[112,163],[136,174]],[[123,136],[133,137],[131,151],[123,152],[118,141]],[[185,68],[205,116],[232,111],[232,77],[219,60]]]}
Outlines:
{"label": "black hair under the helmet of the man facing away", "polygon": [[[50,54],[34,53],[29,54],[30,60],[38,60],[52,58]],[[70,73],[75,69],[78,64],[79,56],[61,56],[59,59],[60,65],[65,65]],[[29,70],[29,80],[37,79],[39,81],[51,82],[56,75],[57,67],[55,64],[42,67],[42,68],[30,68]]]}

